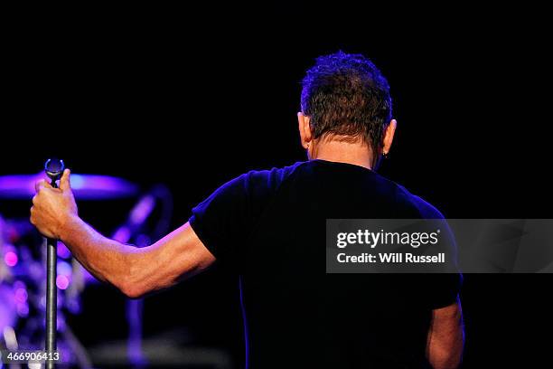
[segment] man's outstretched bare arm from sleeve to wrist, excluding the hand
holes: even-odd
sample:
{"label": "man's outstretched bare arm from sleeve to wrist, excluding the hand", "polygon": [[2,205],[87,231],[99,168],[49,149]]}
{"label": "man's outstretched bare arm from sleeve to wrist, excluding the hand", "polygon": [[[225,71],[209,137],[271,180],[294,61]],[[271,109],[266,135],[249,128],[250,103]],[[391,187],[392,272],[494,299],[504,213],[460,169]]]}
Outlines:
{"label": "man's outstretched bare arm from sleeve to wrist, excluding the hand", "polygon": [[215,260],[189,223],[152,246],[138,249],[109,240],[76,218],[61,241],[96,278],[113,284],[129,298],[171,287]]}

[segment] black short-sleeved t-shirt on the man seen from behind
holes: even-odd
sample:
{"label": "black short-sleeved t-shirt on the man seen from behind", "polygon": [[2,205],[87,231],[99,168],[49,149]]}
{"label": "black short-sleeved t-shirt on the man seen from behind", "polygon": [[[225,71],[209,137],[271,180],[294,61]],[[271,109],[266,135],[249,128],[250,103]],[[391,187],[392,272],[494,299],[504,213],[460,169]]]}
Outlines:
{"label": "black short-sleeved t-shirt on the man seen from behind", "polygon": [[192,229],[239,273],[249,368],[425,368],[432,309],[456,274],[326,274],[326,219],[441,219],[361,166],[312,160],[252,171],[192,210]]}

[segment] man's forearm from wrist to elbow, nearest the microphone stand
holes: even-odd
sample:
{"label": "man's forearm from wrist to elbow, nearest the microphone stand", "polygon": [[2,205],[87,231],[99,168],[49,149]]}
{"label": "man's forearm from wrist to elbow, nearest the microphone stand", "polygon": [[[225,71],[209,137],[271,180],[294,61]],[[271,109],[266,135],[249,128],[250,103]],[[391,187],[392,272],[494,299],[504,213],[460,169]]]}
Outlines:
{"label": "man's forearm from wrist to elbow, nearest the microphone stand", "polygon": [[128,282],[139,249],[109,240],[79,217],[70,218],[60,236],[73,256],[97,279],[109,282],[128,294]]}

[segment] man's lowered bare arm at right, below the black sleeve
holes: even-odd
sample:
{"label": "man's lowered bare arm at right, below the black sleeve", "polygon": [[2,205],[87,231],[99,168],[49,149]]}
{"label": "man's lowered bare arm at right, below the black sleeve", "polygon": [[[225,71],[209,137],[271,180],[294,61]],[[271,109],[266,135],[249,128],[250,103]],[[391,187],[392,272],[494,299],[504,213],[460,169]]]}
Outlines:
{"label": "man's lowered bare arm at right, below the black sleeve", "polygon": [[461,364],[463,345],[463,314],[457,298],[454,304],[433,310],[426,357],[434,369],[455,369]]}

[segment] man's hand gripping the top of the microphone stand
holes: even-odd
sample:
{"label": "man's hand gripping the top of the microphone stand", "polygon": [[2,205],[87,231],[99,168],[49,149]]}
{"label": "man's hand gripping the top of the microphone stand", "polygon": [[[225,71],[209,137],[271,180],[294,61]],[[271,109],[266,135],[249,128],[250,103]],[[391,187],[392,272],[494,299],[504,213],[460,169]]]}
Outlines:
{"label": "man's hand gripping the top of the microphone stand", "polygon": [[70,187],[70,170],[63,171],[60,188],[53,188],[42,179],[36,183],[35,189],[31,222],[45,237],[61,239],[65,224],[77,217],[77,204]]}

